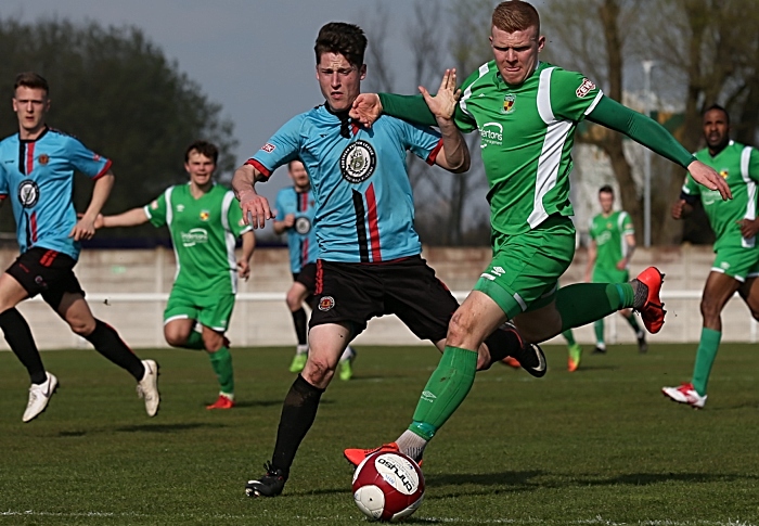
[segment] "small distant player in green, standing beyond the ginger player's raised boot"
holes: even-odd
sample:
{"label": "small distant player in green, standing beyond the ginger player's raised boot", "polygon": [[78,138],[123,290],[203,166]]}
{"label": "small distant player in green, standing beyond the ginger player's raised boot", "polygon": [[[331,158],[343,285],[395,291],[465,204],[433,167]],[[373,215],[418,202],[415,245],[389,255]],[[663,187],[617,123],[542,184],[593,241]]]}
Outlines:
{"label": "small distant player in green, standing beyond the ginger player's raised boot", "polygon": [[[625,210],[614,210],[614,190],[609,185],[599,190],[601,214],[590,220],[590,245],[588,247],[588,265],[586,281],[593,283],[625,283],[630,279],[628,266],[635,252],[635,227],[632,218]],[[645,333],[638,324],[631,309],[622,309],[619,313],[627,320],[638,338],[638,350],[645,352],[648,344]],[[606,352],[604,342],[604,320],[596,320],[594,354]]]}

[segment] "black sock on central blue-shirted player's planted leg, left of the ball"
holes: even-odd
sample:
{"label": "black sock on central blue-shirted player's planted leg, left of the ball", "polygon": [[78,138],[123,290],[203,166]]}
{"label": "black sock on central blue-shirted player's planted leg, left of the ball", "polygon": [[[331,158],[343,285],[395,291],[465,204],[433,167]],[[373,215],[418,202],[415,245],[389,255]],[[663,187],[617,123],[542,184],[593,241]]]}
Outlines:
{"label": "black sock on central blue-shirted player's planted leg, left of the ball", "polygon": [[282,470],[285,478],[290,475],[290,466],[293,465],[300,442],[313,425],[322,393],[324,389],[312,386],[299,374],[287,392],[271,458],[272,466]]}

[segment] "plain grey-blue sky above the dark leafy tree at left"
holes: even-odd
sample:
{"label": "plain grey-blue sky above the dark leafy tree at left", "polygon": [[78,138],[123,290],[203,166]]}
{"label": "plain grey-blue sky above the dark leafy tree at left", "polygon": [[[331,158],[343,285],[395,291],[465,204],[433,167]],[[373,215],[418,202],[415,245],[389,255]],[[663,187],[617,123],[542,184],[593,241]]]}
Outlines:
{"label": "plain grey-blue sky above the dark leafy tree at left", "polygon": [[[406,24],[409,0],[383,0]],[[3,0],[0,16],[93,20],[133,25],[235,124],[237,163],[253,155],[293,115],[323,101],[314,78],[313,41],[326,22],[364,25],[374,2],[356,0]],[[402,55],[403,39],[390,37]],[[370,70],[371,75],[371,70]],[[273,197],[285,174],[262,189]],[[267,188],[268,187],[268,188]]]}

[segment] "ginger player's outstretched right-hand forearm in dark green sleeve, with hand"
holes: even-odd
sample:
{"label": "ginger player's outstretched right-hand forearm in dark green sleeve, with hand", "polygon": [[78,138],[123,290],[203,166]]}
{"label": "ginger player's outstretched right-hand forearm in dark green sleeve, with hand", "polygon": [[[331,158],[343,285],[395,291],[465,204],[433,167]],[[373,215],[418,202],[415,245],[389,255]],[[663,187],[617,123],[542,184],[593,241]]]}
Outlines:
{"label": "ginger player's outstretched right-hand forearm in dark green sleeve, with hand", "polygon": [[588,120],[625,133],[651,151],[686,168],[693,179],[709,190],[719,191],[723,200],[733,197],[730,187],[717,171],[706,166],[680,144],[664,126],[614,99],[602,97]]}

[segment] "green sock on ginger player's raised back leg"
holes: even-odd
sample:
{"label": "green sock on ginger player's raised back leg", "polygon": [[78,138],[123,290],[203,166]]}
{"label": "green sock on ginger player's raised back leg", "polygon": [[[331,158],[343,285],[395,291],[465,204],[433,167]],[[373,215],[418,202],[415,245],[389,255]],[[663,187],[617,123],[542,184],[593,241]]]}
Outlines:
{"label": "green sock on ginger player's raised back leg", "polygon": [[575,283],[556,293],[562,331],[582,326],[619,309],[632,307],[635,294],[630,283]]}

